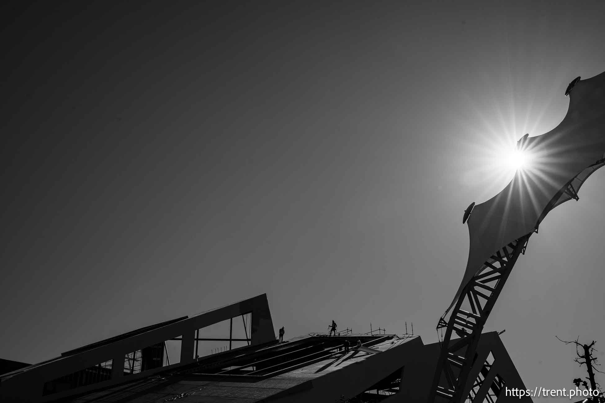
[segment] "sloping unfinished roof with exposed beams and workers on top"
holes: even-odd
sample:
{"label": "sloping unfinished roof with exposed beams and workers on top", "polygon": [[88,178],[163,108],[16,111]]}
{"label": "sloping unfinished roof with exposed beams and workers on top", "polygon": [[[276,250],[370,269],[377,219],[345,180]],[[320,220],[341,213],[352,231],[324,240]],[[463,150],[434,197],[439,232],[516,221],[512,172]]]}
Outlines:
{"label": "sloping unfinished roof with exposed beams and workers on top", "polygon": [[[375,352],[350,349],[344,353],[342,345],[347,339],[352,343],[361,340]],[[415,343],[405,348],[412,341]],[[372,387],[390,375],[393,379],[385,385],[394,393],[399,390],[401,359],[419,346],[422,343],[417,337],[392,334],[300,337],[207,356],[183,369],[90,393],[73,402],[292,401],[309,398],[304,392],[313,389],[334,391],[340,387],[347,393],[352,381],[356,387]]]}

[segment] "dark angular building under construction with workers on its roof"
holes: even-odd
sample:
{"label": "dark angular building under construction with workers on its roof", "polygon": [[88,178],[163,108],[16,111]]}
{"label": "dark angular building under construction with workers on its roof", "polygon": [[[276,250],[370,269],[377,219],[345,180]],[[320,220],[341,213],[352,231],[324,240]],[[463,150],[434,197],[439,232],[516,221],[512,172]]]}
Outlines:
{"label": "dark angular building under construction with workers on its roof", "polygon": [[[202,337],[218,323],[228,324],[228,334]],[[243,337],[235,334],[234,323],[243,324]],[[224,347],[201,354],[203,343]],[[440,351],[439,343],[424,345],[419,336],[384,330],[359,335],[347,329],[280,343],[263,294],[4,373],[0,397],[77,403],[426,402]],[[451,363],[457,359],[452,356]],[[470,375],[469,401],[518,402],[503,388],[525,389],[496,332],[480,338]]]}

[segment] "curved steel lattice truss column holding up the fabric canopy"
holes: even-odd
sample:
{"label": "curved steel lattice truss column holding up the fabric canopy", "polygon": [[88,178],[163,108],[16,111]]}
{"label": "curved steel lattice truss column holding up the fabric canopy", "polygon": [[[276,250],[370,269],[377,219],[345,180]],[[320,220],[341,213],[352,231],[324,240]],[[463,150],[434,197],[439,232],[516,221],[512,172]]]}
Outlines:
{"label": "curved steel lattice truss column holding up the fabric canopy", "polygon": [[[531,234],[509,243],[484,262],[479,272],[466,284],[450,318],[439,319],[437,329],[446,330],[431,386],[430,402],[435,402],[439,397],[440,401],[460,403],[467,397],[467,379],[483,326],[518,256],[525,251],[529,236]],[[462,309],[463,304],[465,308],[468,306],[468,310]],[[452,332],[460,339],[451,342]]]}

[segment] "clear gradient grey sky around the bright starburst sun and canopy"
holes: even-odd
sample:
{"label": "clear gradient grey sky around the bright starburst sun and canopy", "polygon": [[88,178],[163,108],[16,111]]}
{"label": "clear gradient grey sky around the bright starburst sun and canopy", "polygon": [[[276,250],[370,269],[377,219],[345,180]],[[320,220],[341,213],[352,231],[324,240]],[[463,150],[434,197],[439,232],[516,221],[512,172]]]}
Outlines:
{"label": "clear gradient grey sky around the bright starburst sun and canopy", "polygon": [[[286,339],[437,341],[491,156],[605,70],[598,1],[3,7],[0,357],[27,363],[263,293]],[[529,388],[585,376],[555,335],[605,360],[604,204],[598,171],[485,326]]]}

